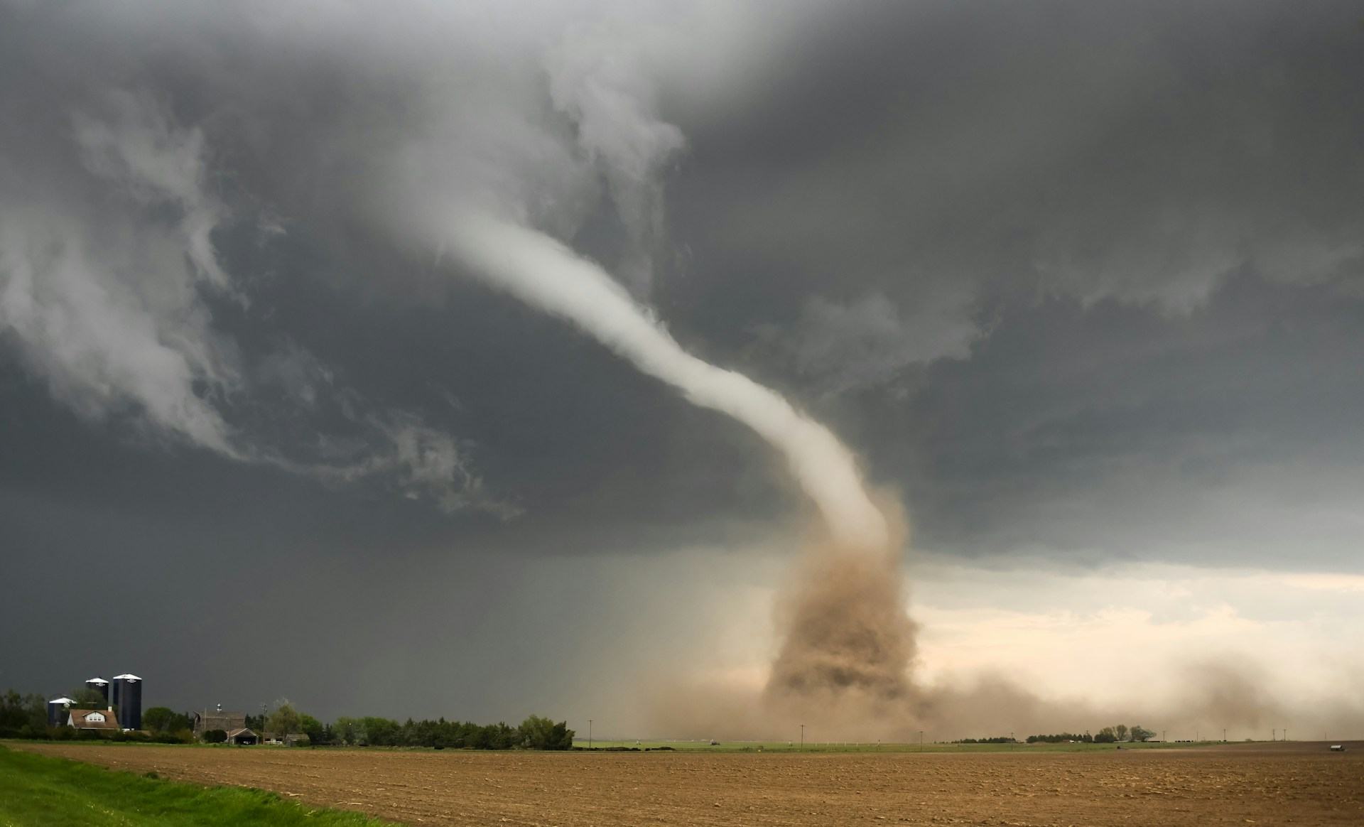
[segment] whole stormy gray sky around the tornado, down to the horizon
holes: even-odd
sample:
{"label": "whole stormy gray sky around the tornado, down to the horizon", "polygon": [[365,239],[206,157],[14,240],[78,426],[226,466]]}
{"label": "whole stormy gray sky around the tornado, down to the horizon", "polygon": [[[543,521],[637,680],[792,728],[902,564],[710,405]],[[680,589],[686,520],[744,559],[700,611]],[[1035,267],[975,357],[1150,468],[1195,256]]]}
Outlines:
{"label": "whole stormy gray sky around the tornado, down to the horizon", "polygon": [[674,5],[0,3],[0,686],[761,671],[799,491],[423,242],[469,205],[896,491],[925,676],[1364,633],[1356,4]]}

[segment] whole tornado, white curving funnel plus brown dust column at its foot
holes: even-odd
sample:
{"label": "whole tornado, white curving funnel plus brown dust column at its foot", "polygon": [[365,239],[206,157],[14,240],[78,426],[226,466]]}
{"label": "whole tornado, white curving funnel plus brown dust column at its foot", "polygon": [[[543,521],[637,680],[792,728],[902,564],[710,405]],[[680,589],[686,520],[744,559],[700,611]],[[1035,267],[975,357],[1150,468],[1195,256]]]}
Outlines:
{"label": "whole tornado, white curving funnel plus brown dust column at its foot", "polygon": [[602,266],[551,236],[487,214],[460,216],[446,229],[446,248],[477,278],[567,321],[692,404],[746,424],[786,459],[822,529],[779,600],[780,650],[765,697],[792,714],[851,704],[853,718],[903,700],[914,658],[903,521],[878,508],[853,452],[775,390],[686,352]]}

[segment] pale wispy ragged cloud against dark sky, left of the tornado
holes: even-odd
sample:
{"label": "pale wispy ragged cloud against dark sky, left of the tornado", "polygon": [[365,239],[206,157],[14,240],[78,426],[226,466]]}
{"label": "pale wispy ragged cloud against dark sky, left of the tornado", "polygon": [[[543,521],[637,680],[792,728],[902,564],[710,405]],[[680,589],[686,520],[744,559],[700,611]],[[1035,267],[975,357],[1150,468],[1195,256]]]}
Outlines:
{"label": "pale wispy ragged cloud against dark sky, left of the tornado", "polygon": [[[151,94],[112,90],[74,112],[64,138],[75,162],[65,175],[83,171],[76,191],[98,203],[63,201],[42,186],[42,171],[34,180],[8,171],[25,184],[11,192],[46,190],[37,203],[0,198],[0,325],[55,396],[90,419],[119,416],[232,460],[331,482],[387,480],[446,512],[518,513],[488,493],[450,434],[340,386],[293,341],[248,364],[216,328],[210,298],[246,308],[250,296],[214,247],[214,231],[233,217],[210,192],[199,128],[180,126]],[[282,396],[258,397],[271,386]],[[344,397],[355,426],[344,439],[319,437],[348,445],[340,464],[316,450],[319,439],[281,444],[233,423],[237,408],[258,419],[307,416],[319,396]]]}

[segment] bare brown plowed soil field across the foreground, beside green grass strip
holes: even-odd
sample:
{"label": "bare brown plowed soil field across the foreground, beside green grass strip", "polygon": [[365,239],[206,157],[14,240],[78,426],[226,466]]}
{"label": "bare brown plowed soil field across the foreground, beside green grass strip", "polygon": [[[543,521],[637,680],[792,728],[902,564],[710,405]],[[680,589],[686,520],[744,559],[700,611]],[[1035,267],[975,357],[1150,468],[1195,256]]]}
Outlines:
{"label": "bare brown plowed soil field across the foreground, beside green grass strip", "polygon": [[411,824],[1364,824],[1364,749],[528,753],[11,744]]}

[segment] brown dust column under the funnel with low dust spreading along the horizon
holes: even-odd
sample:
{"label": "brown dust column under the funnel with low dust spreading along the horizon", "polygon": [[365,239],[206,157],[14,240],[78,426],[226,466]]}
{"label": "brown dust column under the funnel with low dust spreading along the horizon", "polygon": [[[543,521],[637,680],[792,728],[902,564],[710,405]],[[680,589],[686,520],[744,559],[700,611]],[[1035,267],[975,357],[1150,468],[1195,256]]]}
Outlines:
{"label": "brown dust column under the funnel with low dust spreading along the horizon", "polygon": [[[1169,740],[1269,740],[1292,723],[1300,738],[1364,733],[1364,704],[1346,695],[1305,703],[1267,686],[1263,665],[1215,655],[1147,663],[1133,655],[1124,697],[1076,686],[1035,692],[1015,677],[977,671],[917,677],[919,625],[908,605],[908,527],[895,501],[877,504],[892,527],[885,549],[812,539],[773,606],[775,656],[761,678],[662,663],[641,681],[649,737],[730,741],[915,742],[1013,734],[1098,733],[1142,725]],[[822,532],[812,531],[820,538]],[[1086,658],[1083,651],[1075,658]],[[1174,692],[1143,692],[1154,670],[1177,676]],[[1168,677],[1168,676],[1165,676]],[[1315,733],[1315,736],[1314,736]]]}

